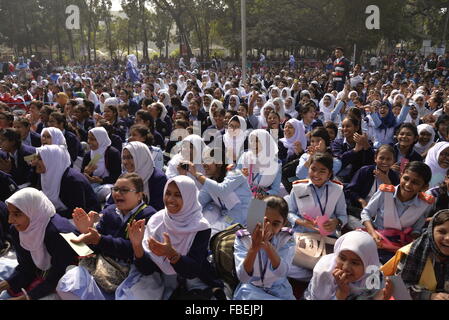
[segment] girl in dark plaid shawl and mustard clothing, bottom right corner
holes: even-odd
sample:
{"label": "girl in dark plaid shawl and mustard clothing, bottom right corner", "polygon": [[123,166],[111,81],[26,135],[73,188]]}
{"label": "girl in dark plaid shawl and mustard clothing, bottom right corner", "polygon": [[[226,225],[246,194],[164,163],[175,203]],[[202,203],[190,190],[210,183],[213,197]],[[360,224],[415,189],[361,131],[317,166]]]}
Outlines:
{"label": "girl in dark plaid shawl and mustard clothing, bottom right corner", "polygon": [[397,251],[383,272],[400,275],[413,300],[449,300],[448,235],[449,210],[445,209],[435,214],[418,239]]}

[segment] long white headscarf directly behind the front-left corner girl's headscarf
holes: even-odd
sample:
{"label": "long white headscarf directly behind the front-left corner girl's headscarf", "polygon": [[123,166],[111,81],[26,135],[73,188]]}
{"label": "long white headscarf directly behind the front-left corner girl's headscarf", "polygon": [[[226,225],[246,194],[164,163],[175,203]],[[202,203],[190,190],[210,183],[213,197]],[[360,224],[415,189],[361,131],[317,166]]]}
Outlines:
{"label": "long white headscarf directly behind the front-left corner girl's headscarf", "polygon": [[53,203],[56,210],[65,210],[67,207],[59,199],[59,192],[62,176],[70,167],[70,156],[66,150],[57,145],[37,148],[37,153],[47,169],[45,173],[41,173],[42,191]]}

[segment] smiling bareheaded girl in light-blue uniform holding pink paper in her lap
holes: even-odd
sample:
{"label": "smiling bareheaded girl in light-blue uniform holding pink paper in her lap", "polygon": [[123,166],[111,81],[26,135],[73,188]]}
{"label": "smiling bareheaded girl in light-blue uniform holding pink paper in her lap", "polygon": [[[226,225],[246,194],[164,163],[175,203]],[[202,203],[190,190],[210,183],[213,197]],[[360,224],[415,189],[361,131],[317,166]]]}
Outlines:
{"label": "smiling bareheaded girl in light-blue uniform holding pink paper in her lap", "polygon": [[343,186],[331,180],[332,168],[331,155],[316,153],[311,157],[309,179],[293,184],[288,220],[295,232],[321,232],[336,236],[337,229],[347,223]]}

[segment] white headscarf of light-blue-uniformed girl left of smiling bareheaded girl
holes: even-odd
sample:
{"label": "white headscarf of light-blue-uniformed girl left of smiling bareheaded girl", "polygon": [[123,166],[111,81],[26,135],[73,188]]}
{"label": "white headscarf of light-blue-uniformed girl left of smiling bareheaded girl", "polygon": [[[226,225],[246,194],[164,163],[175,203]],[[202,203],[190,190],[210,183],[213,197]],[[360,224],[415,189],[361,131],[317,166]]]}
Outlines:
{"label": "white headscarf of light-blue-uniformed girl left of smiling bareheaded girl", "polygon": [[[257,154],[254,151],[255,146],[252,146],[255,137],[262,145]],[[249,150],[242,155],[239,163],[242,168],[252,170],[253,176],[260,175],[260,180],[253,181],[254,184],[260,187],[270,187],[279,170],[277,142],[267,130],[257,129],[250,133],[248,143]]]}

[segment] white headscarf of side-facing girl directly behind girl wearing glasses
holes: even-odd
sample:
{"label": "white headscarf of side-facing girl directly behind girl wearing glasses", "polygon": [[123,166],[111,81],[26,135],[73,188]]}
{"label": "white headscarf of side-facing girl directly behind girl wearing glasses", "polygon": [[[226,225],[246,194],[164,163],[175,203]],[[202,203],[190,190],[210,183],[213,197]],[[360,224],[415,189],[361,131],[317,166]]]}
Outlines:
{"label": "white headscarf of side-facing girl directly behind girl wearing glasses", "polygon": [[148,187],[148,180],[154,173],[154,160],[148,146],[142,142],[133,141],[126,144],[123,149],[131,153],[134,161],[134,172],[137,173],[143,180],[144,193],[150,200],[150,189]]}

